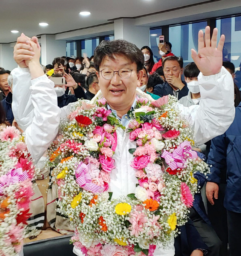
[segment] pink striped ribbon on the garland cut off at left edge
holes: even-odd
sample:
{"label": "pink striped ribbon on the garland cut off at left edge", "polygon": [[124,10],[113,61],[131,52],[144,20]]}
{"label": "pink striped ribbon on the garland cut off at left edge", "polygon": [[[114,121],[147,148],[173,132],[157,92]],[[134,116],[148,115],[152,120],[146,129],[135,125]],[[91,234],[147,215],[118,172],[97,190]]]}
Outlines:
{"label": "pink striped ribbon on the garland cut off at left edge", "polygon": [[3,193],[3,188],[11,184],[16,184],[28,179],[27,171],[23,172],[22,168],[12,169],[8,174],[0,177],[0,194]]}

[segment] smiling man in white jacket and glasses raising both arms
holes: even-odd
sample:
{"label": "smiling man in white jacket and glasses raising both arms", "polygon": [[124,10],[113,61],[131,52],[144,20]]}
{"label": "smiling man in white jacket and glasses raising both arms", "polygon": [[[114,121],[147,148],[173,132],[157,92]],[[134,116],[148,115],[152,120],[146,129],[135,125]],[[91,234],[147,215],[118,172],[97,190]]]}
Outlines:
{"label": "smiling man in white jacket and glasses raising both arms", "polygon": [[[183,116],[191,123],[195,142],[203,144],[207,140],[223,134],[233,121],[233,79],[222,68],[222,49],[224,35],[217,46],[217,29],[210,40],[210,28],[198,34],[198,54],[192,49],[192,58],[198,66],[200,75],[200,105],[189,108],[178,104]],[[217,47],[216,47],[217,46]],[[14,59],[19,67],[12,71],[13,102],[15,120],[22,130],[29,152],[37,162],[47,150],[58,132],[60,118],[69,113],[69,106],[59,109],[53,83],[47,79],[40,66],[40,46],[37,38],[32,40],[25,35],[18,38],[14,49]],[[143,76],[143,54],[133,44],[123,40],[101,43],[95,51],[96,74],[101,91],[96,97],[104,97],[124,126],[128,126],[127,112],[134,107],[136,97],[148,97],[136,91],[137,82]],[[149,98],[149,97],[148,97]],[[95,99],[95,98],[94,98]],[[133,193],[137,183],[130,167],[133,148],[129,134],[117,131],[117,148],[114,154],[116,170],[111,174],[110,190],[114,197]],[[169,250],[157,248],[154,255],[174,255],[174,246]],[[78,250],[75,253],[82,255]],[[203,255],[195,250],[192,256]]]}

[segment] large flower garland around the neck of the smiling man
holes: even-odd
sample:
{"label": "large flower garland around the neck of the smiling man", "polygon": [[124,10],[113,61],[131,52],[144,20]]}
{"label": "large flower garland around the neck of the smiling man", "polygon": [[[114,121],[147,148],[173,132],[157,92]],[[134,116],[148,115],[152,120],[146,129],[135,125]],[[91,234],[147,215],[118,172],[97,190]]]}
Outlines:
{"label": "large flower garland around the neck of the smiling man", "polygon": [[124,128],[108,110],[73,104],[63,133],[49,149],[53,181],[59,185],[59,207],[75,228],[73,244],[85,255],[153,255],[157,245],[168,246],[177,225],[188,220],[198,190],[194,173],[208,172],[195,151],[192,130],[180,117],[176,99],[164,96],[149,102],[139,98],[129,111],[129,152],[138,184],[136,191],[111,200],[107,192],[115,168],[116,129]]}

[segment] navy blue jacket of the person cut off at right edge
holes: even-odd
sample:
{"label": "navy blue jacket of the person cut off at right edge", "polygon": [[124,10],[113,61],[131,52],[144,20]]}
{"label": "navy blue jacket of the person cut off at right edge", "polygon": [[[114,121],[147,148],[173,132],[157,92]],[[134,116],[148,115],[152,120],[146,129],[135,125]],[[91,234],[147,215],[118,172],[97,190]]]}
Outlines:
{"label": "navy blue jacket of the person cut off at right edge", "polygon": [[212,139],[207,163],[212,165],[208,181],[223,183],[222,176],[227,171],[224,207],[241,213],[241,103],[226,133]]}

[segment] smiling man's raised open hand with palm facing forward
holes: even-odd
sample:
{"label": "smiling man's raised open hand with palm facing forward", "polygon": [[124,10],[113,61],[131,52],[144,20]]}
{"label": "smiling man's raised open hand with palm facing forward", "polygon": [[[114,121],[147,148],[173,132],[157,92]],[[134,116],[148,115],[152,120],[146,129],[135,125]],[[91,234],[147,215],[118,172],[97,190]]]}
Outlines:
{"label": "smiling man's raised open hand with palm facing forward", "polygon": [[205,37],[203,31],[198,32],[198,53],[191,49],[192,59],[196,63],[200,72],[204,76],[218,74],[223,65],[223,45],[225,36],[221,35],[217,46],[218,29],[215,28],[210,40],[210,27],[205,28]]}

